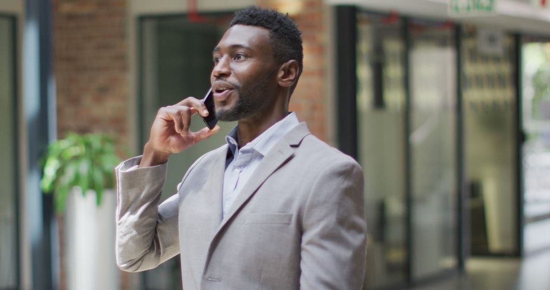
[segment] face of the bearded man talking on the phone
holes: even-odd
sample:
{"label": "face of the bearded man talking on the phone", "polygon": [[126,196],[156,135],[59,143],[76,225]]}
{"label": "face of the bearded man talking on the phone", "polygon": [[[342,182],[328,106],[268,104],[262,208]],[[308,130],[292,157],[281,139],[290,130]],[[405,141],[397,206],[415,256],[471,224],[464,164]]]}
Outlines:
{"label": "face of the bearded man talking on the phone", "polygon": [[210,76],[216,117],[237,121],[259,116],[277,88],[270,33],[258,26],[234,25],[213,51]]}

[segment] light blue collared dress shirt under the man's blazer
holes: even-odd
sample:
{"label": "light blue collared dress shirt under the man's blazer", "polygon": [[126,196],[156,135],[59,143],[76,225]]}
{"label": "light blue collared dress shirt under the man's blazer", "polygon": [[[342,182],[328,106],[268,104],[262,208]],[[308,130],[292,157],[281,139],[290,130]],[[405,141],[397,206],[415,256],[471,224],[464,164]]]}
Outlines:
{"label": "light blue collared dress shirt under the man's blazer", "polygon": [[263,157],[298,124],[296,114],[290,113],[240,149],[237,142],[237,126],[229,132],[226,141],[233,155],[228,157],[223,179],[222,219],[229,212],[233,201],[254,174]]}

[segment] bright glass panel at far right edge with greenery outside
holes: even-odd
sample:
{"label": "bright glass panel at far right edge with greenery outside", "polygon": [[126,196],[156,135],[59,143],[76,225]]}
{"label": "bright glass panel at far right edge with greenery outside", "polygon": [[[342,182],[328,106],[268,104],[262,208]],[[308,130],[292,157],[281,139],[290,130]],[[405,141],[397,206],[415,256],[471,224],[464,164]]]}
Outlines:
{"label": "bright glass panel at far right edge with greenery outside", "polygon": [[550,43],[524,44],[522,54],[524,245],[530,252],[550,247]]}

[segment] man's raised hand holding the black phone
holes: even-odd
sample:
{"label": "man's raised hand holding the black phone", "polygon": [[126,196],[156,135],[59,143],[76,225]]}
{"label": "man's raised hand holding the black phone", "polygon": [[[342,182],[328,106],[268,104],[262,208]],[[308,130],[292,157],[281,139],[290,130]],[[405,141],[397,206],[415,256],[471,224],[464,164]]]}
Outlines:
{"label": "man's raised hand holding the black phone", "polygon": [[188,97],[175,105],[159,109],[139,167],[163,164],[171,154],[182,152],[219,132],[218,125],[212,130],[204,127],[200,131],[191,132],[189,130],[191,116],[197,112],[202,116],[208,115],[205,104],[194,97]]}

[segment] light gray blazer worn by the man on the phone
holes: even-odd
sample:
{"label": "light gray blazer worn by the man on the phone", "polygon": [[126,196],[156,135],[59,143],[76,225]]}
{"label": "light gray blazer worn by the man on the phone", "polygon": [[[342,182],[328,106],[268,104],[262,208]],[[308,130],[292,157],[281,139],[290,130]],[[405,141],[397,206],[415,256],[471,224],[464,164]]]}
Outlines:
{"label": "light gray blazer worn by the man on the phone", "polygon": [[158,205],[166,164],[117,167],[116,255],[143,271],[180,254],[184,289],[360,289],[363,176],[352,158],[301,123],[256,169],[222,219],[227,145],[187,171]]}

